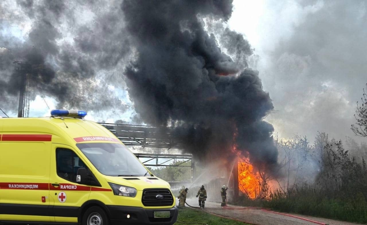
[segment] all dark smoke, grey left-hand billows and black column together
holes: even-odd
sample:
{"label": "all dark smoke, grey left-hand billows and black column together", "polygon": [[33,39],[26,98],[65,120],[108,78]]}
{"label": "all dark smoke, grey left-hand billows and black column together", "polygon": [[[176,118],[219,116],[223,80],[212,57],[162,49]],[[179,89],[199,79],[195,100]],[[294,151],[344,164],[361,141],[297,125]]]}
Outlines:
{"label": "all dark smoke, grey left-hand billows and black column together", "polygon": [[[54,96],[60,108],[126,110],[108,89],[124,88],[123,77],[134,119],[177,126],[195,156],[226,157],[236,146],[275,164],[273,127],[262,121],[272,101],[247,66],[250,44],[222,25],[231,14],[222,0],[2,0],[0,107],[18,108],[14,60],[32,64],[33,97]],[[13,26],[30,28],[15,37]]]}

